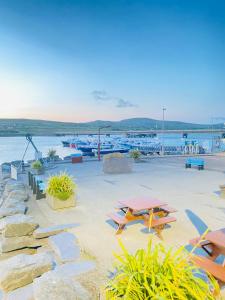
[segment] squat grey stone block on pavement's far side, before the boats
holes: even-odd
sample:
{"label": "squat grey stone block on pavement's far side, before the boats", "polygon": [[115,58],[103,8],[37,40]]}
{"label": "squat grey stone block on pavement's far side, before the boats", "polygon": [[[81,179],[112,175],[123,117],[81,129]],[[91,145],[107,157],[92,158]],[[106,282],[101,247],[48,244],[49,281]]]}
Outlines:
{"label": "squat grey stone block on pavement's far side, before the boats", "polygon": [[133,159],[125,156],[107,156],[103,160],[103,172],[106,174],[121,174],[132,172]]}

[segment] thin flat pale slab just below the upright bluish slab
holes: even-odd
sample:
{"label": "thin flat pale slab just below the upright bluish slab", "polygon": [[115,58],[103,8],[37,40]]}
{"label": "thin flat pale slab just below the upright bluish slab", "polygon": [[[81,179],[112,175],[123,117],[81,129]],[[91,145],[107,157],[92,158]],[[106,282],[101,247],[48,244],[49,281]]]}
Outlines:
{"label": "thin flat pale slab just below the upright bluish slab", "polygon": [[57,265],[53,272],[62,274],[65,277],[75,277],[95,269],[92,261],[81,261]]}

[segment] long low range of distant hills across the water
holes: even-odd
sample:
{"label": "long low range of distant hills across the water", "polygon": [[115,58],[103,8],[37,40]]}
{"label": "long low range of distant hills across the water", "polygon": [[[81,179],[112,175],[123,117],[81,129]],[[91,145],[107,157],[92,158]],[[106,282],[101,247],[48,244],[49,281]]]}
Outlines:
{"label": "long low range of distant hills across the water", "polygon": [[[165,129],[209,129],[210,124],[193,124],[179,121],[165,121]],[[0,119],[0,136],[64,135],[81,131],[96,131],[101,126],[110,126],[111,131],[161,129],[162,121],[148,118],[132,118],[121,121],[93,121],[86,123],[56,122],[30,119]],[[214,128],[224,128],[215,124]]]}

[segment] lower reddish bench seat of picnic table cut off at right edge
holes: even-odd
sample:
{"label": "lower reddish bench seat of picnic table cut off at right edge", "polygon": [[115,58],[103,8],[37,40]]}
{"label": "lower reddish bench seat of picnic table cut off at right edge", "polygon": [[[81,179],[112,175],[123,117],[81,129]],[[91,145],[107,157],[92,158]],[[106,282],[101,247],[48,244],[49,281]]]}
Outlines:
{"label": "lower reddish bench seat of picnic table cut off at right edge", "polygon": [[213,275],[221,283],[225,284],[225,266],[219,265],[202,256],[193,256],[191,261],[206,272]]}

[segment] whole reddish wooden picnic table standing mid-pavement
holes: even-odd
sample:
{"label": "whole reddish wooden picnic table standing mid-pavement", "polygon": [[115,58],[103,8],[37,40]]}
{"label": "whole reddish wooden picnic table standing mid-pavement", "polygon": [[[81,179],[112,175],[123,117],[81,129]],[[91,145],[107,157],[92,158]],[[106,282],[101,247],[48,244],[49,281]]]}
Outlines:
{"label": "whole reddish wooden picnic table standing mid-pavement", "polygon": [[117,207],[123,215],[111,213],[109,217],[118,225],[116,234],[120,234],[126,224],[136,220],[143,220],[144,225],[153,228],[160,235],[167,223],[176,221],[168,214],[176,210],[167,206],[165,202],[150,197],[137,197],[119,201]]}

